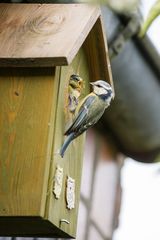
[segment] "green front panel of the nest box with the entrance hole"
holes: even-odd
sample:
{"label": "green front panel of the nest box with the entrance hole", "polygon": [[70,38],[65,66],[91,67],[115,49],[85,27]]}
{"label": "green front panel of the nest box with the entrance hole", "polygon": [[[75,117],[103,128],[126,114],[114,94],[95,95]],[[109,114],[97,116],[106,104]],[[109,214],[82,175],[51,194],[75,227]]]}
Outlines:
{"label": "green front panel of the nest box with the entrance hole", "polygon": [[[65,152],[64,158],[59,155],[60,147],[64,142],[64,132],[69,123],[72,122],[73,114],[68,110],[68,84],[72,74],[79,74],[84,80],[84,89],[82,98],[88,94],[89,73],[84,50],[81,48],[73,62],[68,67],[61,67],[60,87],[56,113],[53,163],[50,172],[50,183],[48,190],[48,201],[46,208],[46,219],[51,221],[62,232],[68,234],[68,237],[75,237],[77,228],[77,215],[80,196],[80,179],[82,172],[82,160],[84,151],[85,134],[75,139]],[[59,198],[53,193],[56,168],[63,169],[62,190]],[[74,208],[67,207],[67,180],[68,177],[75,183],[75,201]]]}

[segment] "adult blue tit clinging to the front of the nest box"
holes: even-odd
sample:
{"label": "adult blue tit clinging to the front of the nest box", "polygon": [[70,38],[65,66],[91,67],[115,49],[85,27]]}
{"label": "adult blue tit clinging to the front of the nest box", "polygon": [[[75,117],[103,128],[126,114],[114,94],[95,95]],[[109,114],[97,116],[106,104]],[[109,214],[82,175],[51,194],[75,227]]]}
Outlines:
{"label": "adult blue tit clinging to the front of the nest box", "polygon": [[90,84],[93,86],[93,92],[78,104],[73,123],[64,134],[67,138],[60,150],[62,158],[73,139],[97,123],[113,98],[113,90],[105,81],[98,80]]}

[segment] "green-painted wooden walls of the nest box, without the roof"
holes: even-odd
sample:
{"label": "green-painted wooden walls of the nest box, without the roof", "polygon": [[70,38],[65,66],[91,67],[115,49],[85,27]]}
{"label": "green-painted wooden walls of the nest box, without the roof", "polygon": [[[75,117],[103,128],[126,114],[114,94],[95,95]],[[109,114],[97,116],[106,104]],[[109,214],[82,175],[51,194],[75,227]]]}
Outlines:
{"label": "green-painted wooden walls of the nest box, without the roof", "polygon": [[[83,48],[72,64],[54,68],[0,70],[0,235],[75,237],[85,134],[62,159],[70,75],[84,79],[89,90]],[[64,169],[60,199],[53,195],[56,166]],[[75,208],[67,209],[67,176],[75,179]],[[66,219],[69,224],[60,220]]]}

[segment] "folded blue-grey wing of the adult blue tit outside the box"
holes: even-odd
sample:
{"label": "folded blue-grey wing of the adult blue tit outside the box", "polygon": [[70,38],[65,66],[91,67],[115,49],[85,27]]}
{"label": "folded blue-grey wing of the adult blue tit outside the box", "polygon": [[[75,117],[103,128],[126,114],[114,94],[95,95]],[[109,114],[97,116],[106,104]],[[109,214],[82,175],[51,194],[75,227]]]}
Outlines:
{"label": "folded blue-grey wing of the adult blue tit outside the box", "polygon": [[96,99],[96,96],[93,96],[93,95],[90,95],[85,99],[85,101],[83,102],[82,106],[78,111],[77,117],[75,118],[72,125],[65,132],[65,135],[68,135],[71,132],[76,131],[76,129],[78,129],[86,121],[88,117],[88,110],[90,106],[94,103],[95,99]]}

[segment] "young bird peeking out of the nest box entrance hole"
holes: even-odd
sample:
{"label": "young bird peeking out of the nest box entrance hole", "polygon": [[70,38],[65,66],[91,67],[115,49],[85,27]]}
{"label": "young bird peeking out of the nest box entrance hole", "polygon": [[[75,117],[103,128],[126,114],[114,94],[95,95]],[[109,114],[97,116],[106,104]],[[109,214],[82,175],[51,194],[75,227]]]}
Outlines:
{"label": "young bird peeking out of the nest box entrance hole", "polygon": [[72,74],[69,80],[69,110],[74,113],[79,103],[79,97],[83,89],[83,79],[76,74]]}

